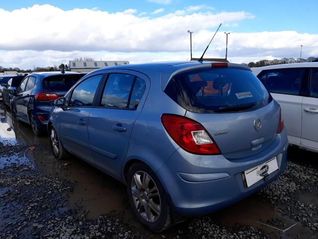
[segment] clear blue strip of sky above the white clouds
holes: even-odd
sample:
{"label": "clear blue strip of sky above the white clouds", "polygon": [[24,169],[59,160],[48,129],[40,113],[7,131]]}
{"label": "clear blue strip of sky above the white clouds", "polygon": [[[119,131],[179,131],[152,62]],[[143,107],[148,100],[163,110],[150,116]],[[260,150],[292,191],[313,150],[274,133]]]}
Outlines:
{"label": "clear blue strip of sky above the white clouds", "polygon": [[150,12],[163,7],[164,12],[174,12],[188,5],[206,4],[212,11],[247,11],[255,18],[246,20],[236,28],[239,31],[281,31],[296,30],[299,33],[318,33],[318,0],[171,0],[159,4],[147,0],[0,0],[0,8],[14,10],[34,4],[52,4],[65,10],[94,8],[108,12],[135,8],[138,12]]}

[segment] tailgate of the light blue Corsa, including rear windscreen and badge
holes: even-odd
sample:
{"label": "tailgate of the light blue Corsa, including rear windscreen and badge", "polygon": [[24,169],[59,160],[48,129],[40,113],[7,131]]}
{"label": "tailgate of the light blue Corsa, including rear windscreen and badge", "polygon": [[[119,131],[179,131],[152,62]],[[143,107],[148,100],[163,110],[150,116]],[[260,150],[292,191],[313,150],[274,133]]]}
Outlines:
{"label": "tailgate of the light blue Corsa, including rear windscreen and badge", "polygon": [[255,155],[275,139],[280,110],[249,69],[204,68],[175,75],[164,92],[201,123],[229,159]]}

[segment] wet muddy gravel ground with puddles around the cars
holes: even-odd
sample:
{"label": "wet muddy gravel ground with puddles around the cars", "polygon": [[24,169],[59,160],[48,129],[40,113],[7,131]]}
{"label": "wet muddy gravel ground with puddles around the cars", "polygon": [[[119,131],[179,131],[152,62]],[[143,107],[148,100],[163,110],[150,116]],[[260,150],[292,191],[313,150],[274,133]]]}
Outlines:
{"label": "wet muddy gravel ground with puddles around the cars", "polygon": [[0,105],[0,239],[318,238],[318,154],[290,148],[288,158],[266,188],[155,234],[133,217],[125,185],[75,156],[57,161],[47,137]]}

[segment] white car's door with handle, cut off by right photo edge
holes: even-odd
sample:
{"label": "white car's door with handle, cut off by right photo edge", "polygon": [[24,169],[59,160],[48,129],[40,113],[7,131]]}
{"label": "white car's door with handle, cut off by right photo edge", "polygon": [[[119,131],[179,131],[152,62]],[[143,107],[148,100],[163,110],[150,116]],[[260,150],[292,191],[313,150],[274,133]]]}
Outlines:
{"label": "white car's door with handle, cut off by right photo edge", "polygon": [[309,96],[303,100],[301,144],[318,149],[318,68],[310,73]]}

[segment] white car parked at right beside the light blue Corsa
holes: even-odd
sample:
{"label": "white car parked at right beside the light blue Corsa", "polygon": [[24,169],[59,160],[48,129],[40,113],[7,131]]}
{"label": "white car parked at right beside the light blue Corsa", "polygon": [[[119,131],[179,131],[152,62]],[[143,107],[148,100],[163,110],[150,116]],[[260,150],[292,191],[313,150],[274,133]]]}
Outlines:
{"label": "white car parked at right beside the light blue Corsa", "polygon": [[318,152],[318,62],[252,71],[281,105],[289,143]]}

